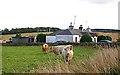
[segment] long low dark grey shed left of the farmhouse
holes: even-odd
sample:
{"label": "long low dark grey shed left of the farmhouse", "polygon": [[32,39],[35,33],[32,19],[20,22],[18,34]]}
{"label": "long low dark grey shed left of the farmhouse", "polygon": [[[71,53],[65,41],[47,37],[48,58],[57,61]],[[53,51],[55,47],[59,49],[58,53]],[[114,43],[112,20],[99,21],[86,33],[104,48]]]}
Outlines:
{"label": "long low dark grey shed left of the farmhouse", "polygon": [[32,43],[35,42],[35,37],[12,37],[12,43]]}

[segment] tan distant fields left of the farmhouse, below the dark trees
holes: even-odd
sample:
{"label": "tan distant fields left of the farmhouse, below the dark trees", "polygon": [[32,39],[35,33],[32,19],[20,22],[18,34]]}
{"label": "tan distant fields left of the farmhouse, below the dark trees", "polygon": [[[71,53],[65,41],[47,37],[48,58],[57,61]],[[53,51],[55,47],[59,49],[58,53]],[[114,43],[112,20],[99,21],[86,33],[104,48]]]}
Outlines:
{"label": "tan distant fields left of the farmhouse, below the dark trees", "polygon": [[[37,34],[50,34],[52,32],[36,32],[36,33],[21,33],[21,35],[24,36],[37,36]],[[9,38],[14,37],[16,34],[8,34],[8,35],[2,35],[2,39],[0,40],[9,40]]]}

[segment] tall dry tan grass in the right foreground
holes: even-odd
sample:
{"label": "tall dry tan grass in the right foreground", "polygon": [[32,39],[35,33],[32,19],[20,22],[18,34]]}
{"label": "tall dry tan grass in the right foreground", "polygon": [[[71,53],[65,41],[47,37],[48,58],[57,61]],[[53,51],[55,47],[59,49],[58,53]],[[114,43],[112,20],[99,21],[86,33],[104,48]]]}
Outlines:
{"label": "tall dry tan grass in the right foreground", "polygon": [[119,48],[99,49],[94,56],[88,56],[80,60],[74,58],[70,65],[56,62],[53,65],[44,65],[32,70],[32,73],[118,73]]}

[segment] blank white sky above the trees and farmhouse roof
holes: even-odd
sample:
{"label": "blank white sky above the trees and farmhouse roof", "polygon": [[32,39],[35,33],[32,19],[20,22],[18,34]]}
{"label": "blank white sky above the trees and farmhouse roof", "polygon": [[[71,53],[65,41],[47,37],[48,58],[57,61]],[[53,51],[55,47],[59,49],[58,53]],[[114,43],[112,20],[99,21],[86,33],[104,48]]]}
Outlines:
{"label": "blank white sky above the trees and farmhouse roof", "polygon": [[[120,0],[0,0],[0,29],[57,27],[118,29]],[[76,17],[74,17],[76,16]]]}

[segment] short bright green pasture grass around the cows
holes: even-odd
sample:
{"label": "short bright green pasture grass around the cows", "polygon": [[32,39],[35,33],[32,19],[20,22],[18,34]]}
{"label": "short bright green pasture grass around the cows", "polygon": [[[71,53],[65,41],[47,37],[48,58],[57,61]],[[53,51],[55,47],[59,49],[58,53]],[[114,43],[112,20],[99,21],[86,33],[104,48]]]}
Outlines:
{"label": "short bright green pasture grass around the cows", "polygon": [[[95,49],[92,47],[74,46],[74,57],[71,64],[75,64],[78,59],[94,55],[94,53]],[[38,67],[50,67],[56,61],[63,63],[62,57],[59,60],[55,60],[55,57],[54,53],[43,54],[41,46],[3,46],[2,72],[24,73]]]}

